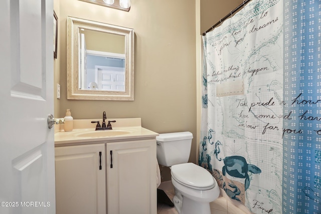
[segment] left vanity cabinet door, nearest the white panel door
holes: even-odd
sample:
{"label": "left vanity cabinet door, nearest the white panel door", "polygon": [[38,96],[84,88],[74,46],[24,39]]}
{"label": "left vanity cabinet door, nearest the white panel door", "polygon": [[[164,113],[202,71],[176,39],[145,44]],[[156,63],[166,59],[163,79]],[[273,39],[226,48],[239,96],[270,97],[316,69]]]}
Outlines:
{"label": "left vanity cabinet door, nearest the white panel door", "polygon": [[106,214],[105,144],[55,148],[56,213]]}

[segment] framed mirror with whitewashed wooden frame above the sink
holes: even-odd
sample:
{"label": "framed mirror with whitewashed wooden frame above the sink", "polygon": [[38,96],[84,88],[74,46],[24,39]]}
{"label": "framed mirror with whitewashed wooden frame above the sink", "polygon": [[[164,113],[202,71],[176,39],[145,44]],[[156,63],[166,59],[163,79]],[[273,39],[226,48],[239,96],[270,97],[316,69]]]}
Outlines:
{"label": "framed mirror with whitewashed wooden frame above the sink", "polygon": [[67,18],[68,99],[133,100],[133,29]]}

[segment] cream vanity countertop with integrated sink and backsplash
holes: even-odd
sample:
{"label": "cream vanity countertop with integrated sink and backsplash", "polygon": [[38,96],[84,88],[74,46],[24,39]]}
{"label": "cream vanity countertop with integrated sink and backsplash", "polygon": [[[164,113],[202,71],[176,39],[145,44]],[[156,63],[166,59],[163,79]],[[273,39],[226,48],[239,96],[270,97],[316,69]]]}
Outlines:
{"label": "cream vanity countertop with integrated sink and backsplash", "polygon": [[158,133],[141,127],[140,118],[107,119],[116,120],[112,124],[112,130],[95,131],[95,124],[89,120],[74,120],[74,129],[65,132],[62,126],[55,127],[55,146],[77,145],[83,143],[120,142],[127,140],[150,139],[158,136]]}

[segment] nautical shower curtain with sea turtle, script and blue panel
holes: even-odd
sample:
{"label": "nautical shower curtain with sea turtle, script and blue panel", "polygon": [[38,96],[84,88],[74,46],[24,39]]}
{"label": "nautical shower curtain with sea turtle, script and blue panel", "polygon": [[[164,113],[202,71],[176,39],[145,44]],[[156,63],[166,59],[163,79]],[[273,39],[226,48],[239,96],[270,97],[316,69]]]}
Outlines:
{"label": "nautical shower curtain with sea turtle, script and blue panel", "polygon": [[321,213],[320,11],[252,0],[203,37],[199,164],[254,213]]}

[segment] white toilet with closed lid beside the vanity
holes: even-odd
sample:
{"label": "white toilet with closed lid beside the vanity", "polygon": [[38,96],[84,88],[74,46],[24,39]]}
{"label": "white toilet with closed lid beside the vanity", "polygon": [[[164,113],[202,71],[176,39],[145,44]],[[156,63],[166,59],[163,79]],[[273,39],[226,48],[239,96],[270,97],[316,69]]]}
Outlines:
{"label": "white toilet with closed lid beside the vanity", "polygon": [[175,132],[156,137],[157,161],[171,168],[173,202],[179,214],[210,214],[210,202],[220,194],[214,177],[205,168],[188,163],[193,134]]}

